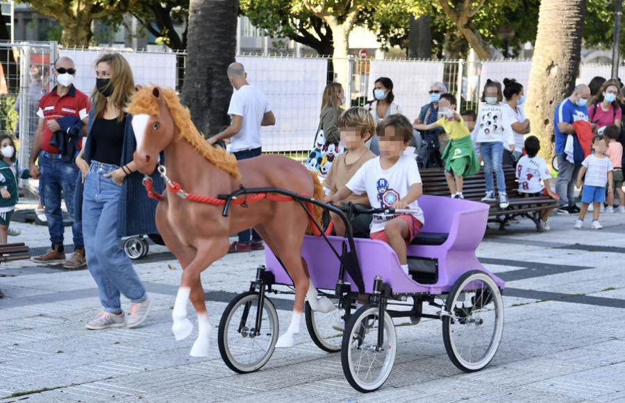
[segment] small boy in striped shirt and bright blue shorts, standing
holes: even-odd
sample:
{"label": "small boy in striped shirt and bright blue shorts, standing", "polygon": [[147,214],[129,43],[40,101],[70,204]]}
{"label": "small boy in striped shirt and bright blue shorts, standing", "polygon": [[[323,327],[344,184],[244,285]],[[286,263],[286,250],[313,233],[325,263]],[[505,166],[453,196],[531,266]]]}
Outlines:
{"label": "small boy in striped shirt and bright blue shorts, standing", "polygon": [[612,162],[605,154],[608,149],[606,137],[603,137],[603,135],[594,135],[592,137],[592,148],[594,149],[594,154],[590,154],[585,158],[584,162],[582,162],[579,174],[577,175],[577,188],[579,189],[584,173],[586,174],[581,198],[582,207],[579,212],[579,218],[575,221],[575,225],[573,226],[576,230],[583,227],[584,216],[586,215],[590,203],[592,203],[594,207],[590,228],[593,230],[601,230],[603,228],[599,223],[599,211],[601,210],[603,200],[606,200],[606,185],[608,185],[608,193],[613,191]]}

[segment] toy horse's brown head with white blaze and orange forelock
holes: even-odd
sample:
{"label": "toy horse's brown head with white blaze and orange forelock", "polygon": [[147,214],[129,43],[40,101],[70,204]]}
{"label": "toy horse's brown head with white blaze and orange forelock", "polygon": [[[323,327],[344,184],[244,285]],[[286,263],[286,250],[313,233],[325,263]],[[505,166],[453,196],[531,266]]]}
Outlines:
{"label": "toy horse's brown head with white blaze and orange forelock", "polygon": [[159,87],[139,89],[127,110],[133,115],[137,140],[133,160],[141,173],[150,174],[156,169],[158,154],[174,139],[174,119]]}

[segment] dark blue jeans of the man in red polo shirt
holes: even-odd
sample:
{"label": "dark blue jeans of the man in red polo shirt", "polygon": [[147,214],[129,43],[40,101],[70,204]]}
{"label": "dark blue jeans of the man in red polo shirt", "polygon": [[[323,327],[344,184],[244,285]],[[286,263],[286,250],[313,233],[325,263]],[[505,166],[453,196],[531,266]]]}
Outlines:
{"label": "dark blue jeans of the man in red polo shirt", "polygon": [[78,169],[74,161],[53,160],[42,152],[39,155],[39,171],[41,173],[41,200],[44,203],[44,207],[46,207],[48,232],[50,233],[52,248],[58,246],[60,252],[64,250],[63,232],[65,232],[65,225],[63,224],[63,212],[60,208],[61,191],[63,191],[67,215],[72,220],[74,248],[83,249],[85,245],[83,241],[83,223],[74,220],[74,188],[76,187],[76,181],[81,175],[80,169]]}

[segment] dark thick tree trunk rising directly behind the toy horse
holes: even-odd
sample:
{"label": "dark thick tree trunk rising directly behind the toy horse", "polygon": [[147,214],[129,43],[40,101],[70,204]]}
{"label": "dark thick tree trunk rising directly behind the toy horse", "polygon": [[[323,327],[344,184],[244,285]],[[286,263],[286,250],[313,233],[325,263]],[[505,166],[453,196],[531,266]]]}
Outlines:
{"label": "dark thick tree trunk rising directly behind the toy horse", "polygon": [[205,137],[230,124],[232,86],[226,69],[235,61],[238,11],[238,0],[190,1],[182,103]]}

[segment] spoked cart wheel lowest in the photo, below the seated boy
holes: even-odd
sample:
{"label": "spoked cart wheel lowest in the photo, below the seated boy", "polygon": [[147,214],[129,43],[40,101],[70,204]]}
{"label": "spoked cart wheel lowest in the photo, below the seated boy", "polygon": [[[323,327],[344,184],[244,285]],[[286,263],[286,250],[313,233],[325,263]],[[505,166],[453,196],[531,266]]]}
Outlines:
{"label": "spoked cart wheel lowest in the photo, below the seated boy", "polygon": [[[378,328],[383,323],[383,342],[378,348]],[[357,391],[376,391],[384,384],[393,368],[397,334],[393,320],[384,312],[383,322],[377,305],[367,304],[351,316],[341,348],[343,373]]]}

